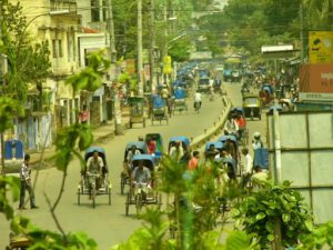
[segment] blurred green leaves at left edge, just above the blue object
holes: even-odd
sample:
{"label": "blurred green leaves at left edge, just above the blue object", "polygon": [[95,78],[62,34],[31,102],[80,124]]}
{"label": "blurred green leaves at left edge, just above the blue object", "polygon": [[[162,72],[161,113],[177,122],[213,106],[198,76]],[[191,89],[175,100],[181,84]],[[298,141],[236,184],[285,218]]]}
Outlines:
{"label": "blurred green leaves at left edge, just above the blue object", "polygon": [[13,127],[16,117],[22,117],[24,110],[17,100],[8,97],[0,97],[0,132]]}

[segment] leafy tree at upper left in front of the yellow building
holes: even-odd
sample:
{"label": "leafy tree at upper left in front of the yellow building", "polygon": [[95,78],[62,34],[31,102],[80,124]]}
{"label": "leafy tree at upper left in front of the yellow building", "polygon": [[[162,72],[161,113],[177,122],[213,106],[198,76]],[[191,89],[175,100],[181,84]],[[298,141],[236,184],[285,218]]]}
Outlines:
{"label": "leafy tree at upper left in front of the yellow building", "polygon": [[28,83],[36,84],[42,100],[42,82],[51,67],[48,42],[33,42],[27,31],[29,24],[19,2],[4,6],[0,52],[8,56],[9,72],[3,92],[22,103],[27,101]]}

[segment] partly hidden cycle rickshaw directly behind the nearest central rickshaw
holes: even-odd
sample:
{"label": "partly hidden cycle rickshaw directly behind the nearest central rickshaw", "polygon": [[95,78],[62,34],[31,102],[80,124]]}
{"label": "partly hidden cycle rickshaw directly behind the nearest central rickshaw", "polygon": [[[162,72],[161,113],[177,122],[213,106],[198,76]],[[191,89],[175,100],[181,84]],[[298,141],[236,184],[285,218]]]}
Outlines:
{"label": "partly hidden cycle rickshaw directly behind the nearest central rickshaw", "polygon": [[124,150],[124,158],[123,158],[123,171],[120,174],[120,191],[121,194],[124,193],[124,187],[125,184],[130,184],[130,176],[131,176],[131,169],[130,164],[131,162],[128,162],[128,154],[129,151],[132,149],[132,147],[135,147],[135,149],[140,152],[140,154],[147,153],[147,144],[144,141],[132,141],[129,142]]}

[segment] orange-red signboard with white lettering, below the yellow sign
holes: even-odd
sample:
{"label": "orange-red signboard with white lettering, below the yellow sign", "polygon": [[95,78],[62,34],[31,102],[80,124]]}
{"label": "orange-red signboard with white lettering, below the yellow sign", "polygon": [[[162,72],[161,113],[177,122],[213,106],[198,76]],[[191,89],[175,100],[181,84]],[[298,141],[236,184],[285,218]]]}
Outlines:
{"label": "orange-red signboard with white lettering, below the yellow sign", "polygon": [[300,68],[300,100],[333,101],[333,63],[303,64]]}

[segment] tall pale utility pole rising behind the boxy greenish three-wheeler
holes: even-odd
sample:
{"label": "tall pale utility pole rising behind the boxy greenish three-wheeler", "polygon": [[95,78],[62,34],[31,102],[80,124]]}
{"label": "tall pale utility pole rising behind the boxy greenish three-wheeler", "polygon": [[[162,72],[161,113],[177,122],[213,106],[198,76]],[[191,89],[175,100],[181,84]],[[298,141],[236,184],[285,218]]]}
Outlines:
{"label": "tall pale utility pole rising behind the boxy greenish three-wheeler", "polygon": [[150,0],[150,83],[151,92],[154,92],[157,89],[157,79],[155,79],[155,11],[154,11],[154,0]]}

